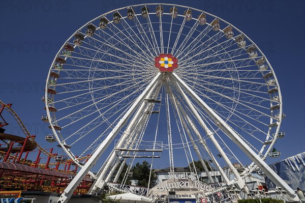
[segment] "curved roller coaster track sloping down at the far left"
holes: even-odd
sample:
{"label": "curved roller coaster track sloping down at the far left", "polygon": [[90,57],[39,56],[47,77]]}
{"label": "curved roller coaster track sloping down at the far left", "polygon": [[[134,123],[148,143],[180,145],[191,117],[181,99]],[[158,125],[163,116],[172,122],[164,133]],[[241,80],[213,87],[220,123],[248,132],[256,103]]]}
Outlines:
{"label": "curved roller coaster track sloping down at the far left", "polygon": [[10,106],[6,105],[2,101],[0,101],[0,105],[5,107],[5,109],[14,117],[14,119],[16,120],[18,125],[20,126],[20,128],[23,131],[23,133],[25,134],[25,136],[28,137],[28,140],[31,141],[33,144],[36,144],[37,149],[40,150],[43,154],[45,154],[45,155],[54,159],[55,156],[50,154],[49,152],[45,151],[42,147],[40,147],[39,144],[35,141],[35,139],[31,136],[31,134],[29,134],[29,132],[27,131],[27,129],[23,125],[22,121],[18,117],[17,113]]}

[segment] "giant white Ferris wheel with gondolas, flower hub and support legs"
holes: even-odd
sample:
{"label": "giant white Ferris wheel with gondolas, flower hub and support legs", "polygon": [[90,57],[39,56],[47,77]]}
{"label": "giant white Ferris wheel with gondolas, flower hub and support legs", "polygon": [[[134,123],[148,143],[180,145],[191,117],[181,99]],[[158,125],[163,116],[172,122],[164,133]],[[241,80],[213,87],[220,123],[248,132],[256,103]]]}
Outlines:
{"label": "giant white Ferris wheel with gondolas, flower hub and support legs", "polygon": [[[140,152],[164,157],[172,169],[182,154],[205,169],[208,160],[229,184],[226,164],[246,192],[243,178],[258,168],[272,173],[264,160],[280,155],[273,144],[285,135],[285,114],[275,72],[238,28],[198,9],[143,4],[90,20],[60,48],[46,81],[54,133],[46,139],[56,138],[82,167],[61,202],[100,157],[92,193],[115,176],[120,161],[145,157]],[[88,155],[86,163],[78,160]],[[245,159],[253,163],[243,166]],[[277,175],[269,178],[293,195]]]}

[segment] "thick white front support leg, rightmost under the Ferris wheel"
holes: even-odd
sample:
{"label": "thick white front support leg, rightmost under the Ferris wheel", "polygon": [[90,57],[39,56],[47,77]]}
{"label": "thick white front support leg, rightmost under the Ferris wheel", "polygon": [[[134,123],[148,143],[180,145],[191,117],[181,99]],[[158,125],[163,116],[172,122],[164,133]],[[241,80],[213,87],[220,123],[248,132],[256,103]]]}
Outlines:
{"label": "thick white front support leg, rightmost under the Ferris wheel", "polygon": [[[200,105],[200,107],[211,117],[222,131],[224,131],[261,170],[266,176],[277,186],[284,188],[290,197],[299,201],[298,196],[294,190],[288,186],[287,183],[273,171],[266,162],[264,162],[249,146],[241,139],[241,137],[214,111],[212,110],[183,80],[181,80],[175,73],[172,74],[173,79],[182,86],[182,88]],[[240,176],[239,176],[240,177]]]}

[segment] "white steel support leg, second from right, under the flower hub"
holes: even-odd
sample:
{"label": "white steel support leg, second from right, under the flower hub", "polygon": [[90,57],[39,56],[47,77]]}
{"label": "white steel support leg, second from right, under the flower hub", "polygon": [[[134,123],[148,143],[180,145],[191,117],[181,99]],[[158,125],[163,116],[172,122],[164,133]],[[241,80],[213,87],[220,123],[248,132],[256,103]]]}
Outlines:
{"label": "white steel support leg, second from right, under the flower hub", "polygon": [[176,86],[177,90],[180,92],[180,94],[182,95],[182,97],[184,97],[185,101],[187,102],[187,104],[189,105],[191,111],[194,113],[195,118],[197,119],[197,121],[199,122],[199,124],[203,127],[203,129],[206,131],[207,136],[210,138],[210,140],[212,141],[212,143],[215,145],[215,147],[217,148],[217,150],[219,151],[219,153],[222,155],[223,159],[225,160],[225,162],[227,163],[228,167],[230,168],[231,172],[233,173],[233,175],[235,176],[237,182],[235,182],[235,185],[237,188],[239,189],[243,189],[245,191],[246,194],[249,194],[249,189],[246,185],[246,183],[241,179],[238,171],[236,170],[236,168],[233,166],[233,164],[231,163],[230,159],[228,158],[228,156],[226,155],[226,153],[223,151],[223,149],[221,148],[220,144],[218,143],[218,141],[215,139],[214,134],[208,129],[208,127],[205,125],[204,121],[201,119],[199,113],[197,112],[197,110],[195,109],[195,107],[193,106],[192,102],[190,101],[190,99],[187,97],[187,95],[182,91],[182,89],[180,88],[179,84],[177,83],[176,79],[174,77],[173,78],[173,83]]}

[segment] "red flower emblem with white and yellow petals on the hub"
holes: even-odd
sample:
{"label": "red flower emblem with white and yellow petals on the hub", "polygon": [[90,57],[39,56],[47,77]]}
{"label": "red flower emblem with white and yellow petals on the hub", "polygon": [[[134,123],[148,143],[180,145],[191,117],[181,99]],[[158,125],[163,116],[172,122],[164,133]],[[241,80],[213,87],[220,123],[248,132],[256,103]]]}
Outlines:
{"label": "red flower emblem with white and yellow petals on the hub", "polygon": [[178,60],[172,54],[161,53],[155,58],[155,66],[159,68],[161,72],[173,72],[178,67]]}

